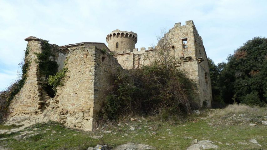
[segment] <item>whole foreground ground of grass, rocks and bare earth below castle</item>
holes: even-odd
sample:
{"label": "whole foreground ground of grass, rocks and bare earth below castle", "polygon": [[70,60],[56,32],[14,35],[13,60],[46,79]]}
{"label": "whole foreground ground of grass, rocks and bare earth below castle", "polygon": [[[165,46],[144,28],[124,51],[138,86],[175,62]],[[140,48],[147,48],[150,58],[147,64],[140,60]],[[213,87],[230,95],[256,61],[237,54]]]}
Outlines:
{"label": "whole foreground ground of grass, rocks and bare earth below castle", "polygon": [[103,124],[94,132],[54,122],[31,125],[23,121],[19,126],[0,126],[0,150],[267,149],[266,108],[247,113],[221,111],[194,111],[187,120],[176,122],[129,117]]}

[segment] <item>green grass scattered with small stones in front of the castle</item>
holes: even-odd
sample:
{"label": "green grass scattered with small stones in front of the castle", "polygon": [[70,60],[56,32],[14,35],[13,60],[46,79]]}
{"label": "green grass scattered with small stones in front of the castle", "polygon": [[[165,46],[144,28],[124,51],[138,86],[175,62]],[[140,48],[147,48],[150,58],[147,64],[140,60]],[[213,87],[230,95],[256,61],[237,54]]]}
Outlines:
{"label": "green grass scattered with small stones in front of the castle", "polygon": [[[228,109],[228,108],[226,108]],[[266,149],[266,126],[258,124],[251,127],[248,124],[216,126],[209,125],[211,121],[220,118],[210,118],[210,114],[221,110],[201,110],[199,116],[189,116],[181,118],[180,121],[167,121],[157,117],[146,117],[147,121],[137,116],[136,121],[130,121],[129,117],[120,119],[117,122],[103,124],[99,130],[94,132],[83,132],[64,128],[60,123],[37,123],[26,130],[40,133],[40,137],[16,141],[12,137],[19,133],[6,136],[7,141],[0,141],[0,145],[7,145],[14,150],[85,150],[88,147],[95,147],[97,144],[107,144],[110,148],[115,148],[128,142],[142,143],[154,146],[159,150],[177,149],[184,150],[191,145],[193,139],[211,140],[218,145],[217,150],[228,149]],[[240,112],[240,111],[238,111]],[[266,116],[266,108],[258,108],[259,116]],[[134,117],[133,117],[134,118]],[[203,119],[205,118],[205,119]],[[261,118],[262,119],[262,118]],[[121,123],[121,126],[118,126]],[[102,128],[103,127],[103,128]],[[130,130],[134,127],[135,130]],[[33,130],[37,128],[37,130]],[[111,131],[104,133],[102,131]],[[151,133],[156,132],[156,135]],[[92,139],[90,136],[101,136],[101,139]],[[186,137],[192,137],[187,139]],[[249,143],[250,139],[256,139],[262,147]],[[221,142],[222,144],[218,144]],[[239,142],[248,143],[240,145]],[[229,143],[229,145],[228,145]],[[233,143],[233,144],[232,144]]]}

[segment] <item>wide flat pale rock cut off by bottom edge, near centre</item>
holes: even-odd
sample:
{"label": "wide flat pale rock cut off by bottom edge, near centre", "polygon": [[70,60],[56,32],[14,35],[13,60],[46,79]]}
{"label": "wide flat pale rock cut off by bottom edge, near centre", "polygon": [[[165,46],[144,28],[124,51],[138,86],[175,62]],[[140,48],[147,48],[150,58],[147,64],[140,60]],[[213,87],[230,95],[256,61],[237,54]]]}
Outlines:
{"label": "wide flat pale rock cut off by bottom edge, near centre", "polygon": [[121,146],[118,146],[114,150],[147,150],[147,149],[156,149],[156,148],[145,144],[126,143]]}

